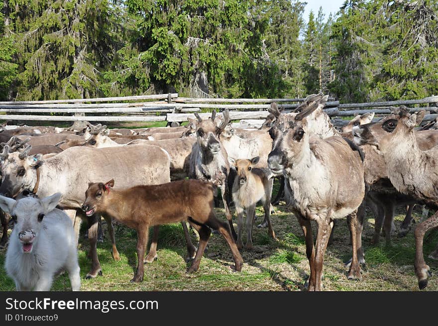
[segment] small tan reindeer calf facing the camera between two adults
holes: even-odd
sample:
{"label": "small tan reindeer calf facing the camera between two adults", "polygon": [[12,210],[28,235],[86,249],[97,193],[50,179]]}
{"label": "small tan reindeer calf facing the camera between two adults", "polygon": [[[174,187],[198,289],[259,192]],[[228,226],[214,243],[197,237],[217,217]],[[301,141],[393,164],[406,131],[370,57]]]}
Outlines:
{"label": "small tan reindeer calf facing the camera between two adults", "polygon": [[231,191],[237,213],[237,248],[241,249],[243,247],[243,211],[246,210],[246,249],[252,249],[252,224],[255,219],[255,207],[260,200],[262,201],[268,224],[268,234],[275,239],[275,233],[270,220],[272,182],[264,170],[256,168],[260,157],[256,156],[251,160],[234,160],[228,156],[228,160],[235,166],[237,172],[237,177],[234,179]]}

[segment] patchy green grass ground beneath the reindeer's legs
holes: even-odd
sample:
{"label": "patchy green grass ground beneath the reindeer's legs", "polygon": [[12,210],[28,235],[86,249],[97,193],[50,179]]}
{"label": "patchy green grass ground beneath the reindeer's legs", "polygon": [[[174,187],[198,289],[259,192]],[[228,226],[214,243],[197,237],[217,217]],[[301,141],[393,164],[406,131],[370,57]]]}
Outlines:
{"label": "patchy green grass ground beneath the reindeer's legs", "polygon": [[[283,202],[281,204],[284,204]],[[223,209],[216,209],[218,217],[225,220]],[[417,221],[420,211],[414,211]],[[257,210],[259,223],[262,210]],[[400,226],[404,212],[397,212],[395,224]],[[144,281],[132,284],[129,280],[136,269],[135,231],[115,225],[117,249],[121,261],[111,257],[111,243],[105,233],[104,243],[98,244],[103,276],[86,280],[91,267],[87,258],[88,240],[81,235],[79,241],[79,264],[81,267],[81,289],[83,291],[299,291],[305,290],[309,277],[309,263],[303,233],[296,217],[284,205],[276,207],[272,223],[278,241],[268,237],[267,229],[254,227],[252,250],[242,249],[244,260],[241,272],[233,269],[232,255],[221,235],[212,234],[207,250],[196,273],[186,274],[190,263],[185,261],[186,245],[180,223],[160,227],[158,260],[145,266]],[[351,257],[348,245],[348,229],[345,221],[337,223],[333,242],[327,248],[324,261],[324,289],[326,291],[417,291],[414,273],[415,241],[411,230],[404,238],[393,237],[391,245],[385,240],[370,245],[373,236],[374,217],[369,214],[364,223],[363,246],[366,268],[361,281],[347,280],[345,262]],[[106,232],[106,224],[103,225]],[[236,228],[236,224],[234,224]],[[314,232],[316,231],[313,225]],[[315,234],[315,233],[314,233]],[[195,232],[191,233],[196,244]],[[243,242],[246,230],[243,230]],[[426,262],[433,276],[426,291],[438,291],[438,262],[428,258],[438,243],[438,232],[425,237]],[[3,269],[5,249],[0,250],[0,291],[14,290],[14,284]],[[52,290],[71,290],[67,275],[58,276]]]}

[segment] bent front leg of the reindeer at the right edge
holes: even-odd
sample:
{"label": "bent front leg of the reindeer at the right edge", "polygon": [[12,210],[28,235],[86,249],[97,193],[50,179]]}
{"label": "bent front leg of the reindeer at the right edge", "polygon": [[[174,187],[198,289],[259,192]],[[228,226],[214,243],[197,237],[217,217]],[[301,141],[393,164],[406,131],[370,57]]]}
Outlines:
{"label": "bent front leg of the reindeer at the right edge", "polygon": [[423,256],[423,239],[427,231],[438,226],[438,212],[425,221],[418,224],[415,228],[415,274],[418,278],[418,287],[423,290],[428,286],[428,278],[431,275],[431,269],[424,260]]}

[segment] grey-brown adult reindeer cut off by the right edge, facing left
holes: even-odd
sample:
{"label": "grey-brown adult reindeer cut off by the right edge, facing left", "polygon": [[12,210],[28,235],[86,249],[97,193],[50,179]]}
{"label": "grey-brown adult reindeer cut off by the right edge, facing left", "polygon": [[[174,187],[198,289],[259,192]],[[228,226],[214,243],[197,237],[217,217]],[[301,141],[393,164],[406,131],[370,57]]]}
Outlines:
{"label": "grey-brown adult reindeer cut off by the right edge, facing left", "polygon": [[[403,194],[410,195],[438,210],[438,148],[422,150],[418,143],[418,125],[426,111],[409,113],[401,109],[399,114],[391,115],[384,121],[365,124],[356,130],[358,142],[370,143],[378,148],[385,159],[391,183]],[[376,139],[373,130],[381,128],[385,136]],[[423,239],[427,231],[438,226],[438,212],[417,225],[415,229],[416,255],[415,273],[418,286],[424,289],[428,284],[430,267],[423,255]]]}

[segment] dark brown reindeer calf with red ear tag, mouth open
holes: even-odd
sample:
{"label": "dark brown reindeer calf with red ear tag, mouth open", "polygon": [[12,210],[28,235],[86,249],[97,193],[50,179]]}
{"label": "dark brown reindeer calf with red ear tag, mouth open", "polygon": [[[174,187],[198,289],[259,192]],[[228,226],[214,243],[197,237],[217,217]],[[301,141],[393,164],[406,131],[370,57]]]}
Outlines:
{"label": "dark brown reindeer calf with red ear tag, mouth open", "polygon": [[113,190],[113,186],[114,180],[106,184],[90,183],[82,209],[87,216],[95,213],[107,215],[137,231],[137,272],[131,282],[143,280],[143,257],[149,227],[181,221],[188,221],[198,231],[200,238],[195,259],[187,272],[198,270],[210,238],[210,228],[218,230],[228,242],[235,270],[241,270],[243,260],[228,225],[215,216],[216,188],[212,184],[201,180],[179,180],[123,190]]}

